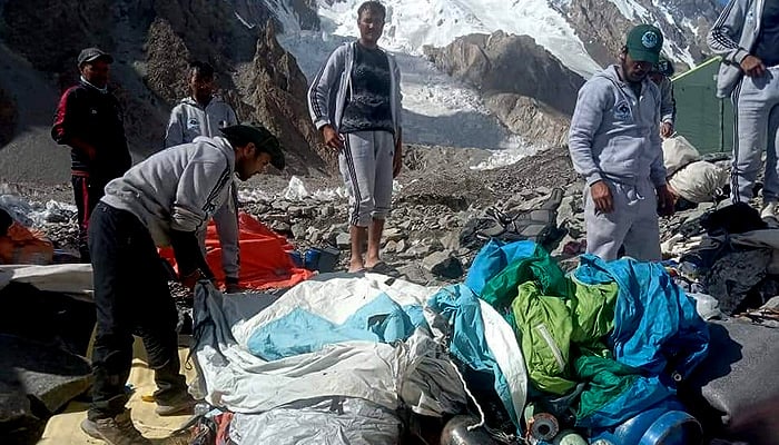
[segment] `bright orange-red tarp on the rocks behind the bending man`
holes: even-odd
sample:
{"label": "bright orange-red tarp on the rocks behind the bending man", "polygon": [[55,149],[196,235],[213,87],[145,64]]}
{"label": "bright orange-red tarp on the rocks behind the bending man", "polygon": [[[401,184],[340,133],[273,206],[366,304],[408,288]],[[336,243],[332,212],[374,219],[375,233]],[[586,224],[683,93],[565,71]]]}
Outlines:
{"label": "bright orange-red tarp on the rocks behind the bending man", "polygon": [[[240,286],[252,289],[285,288],[314,275],[310,270],[295,266],[288,254],[294,247],[285,237],[268,229],[250,215],[238,214],[238,233]],[[172,249],[161,249],[160,255],[176,266]],[[208,224],[206,235],[206,261],[217,280],[224,283],[221,247],[213,220]]]}

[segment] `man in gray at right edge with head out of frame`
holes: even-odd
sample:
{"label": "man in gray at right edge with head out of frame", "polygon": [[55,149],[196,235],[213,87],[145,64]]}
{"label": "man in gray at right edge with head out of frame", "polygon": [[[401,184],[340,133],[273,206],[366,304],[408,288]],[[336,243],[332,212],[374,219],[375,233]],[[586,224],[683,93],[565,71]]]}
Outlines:
{"label": "man in gray at right edge with head out of frame", "polygon": [[717,97],[733,101],[731,199],[753,198],[755,180],[766,150],[763,208],[779,209],[779,1],[730,0],[711,27],[708,43],[722,56]]}

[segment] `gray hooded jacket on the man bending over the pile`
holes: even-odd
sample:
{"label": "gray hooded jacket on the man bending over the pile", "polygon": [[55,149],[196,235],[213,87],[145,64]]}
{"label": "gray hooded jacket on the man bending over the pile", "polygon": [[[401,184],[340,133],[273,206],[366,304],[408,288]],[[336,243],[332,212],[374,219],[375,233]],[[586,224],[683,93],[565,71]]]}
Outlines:
{"label": "gray hooded jacket on the man bending over the pile", "polygon": [[106,186],[102,201],[127,210],[149,229],[158,247],[170,245],[171,230],[198,231],[227,201],[235,150],[221,137],[161,150]]}

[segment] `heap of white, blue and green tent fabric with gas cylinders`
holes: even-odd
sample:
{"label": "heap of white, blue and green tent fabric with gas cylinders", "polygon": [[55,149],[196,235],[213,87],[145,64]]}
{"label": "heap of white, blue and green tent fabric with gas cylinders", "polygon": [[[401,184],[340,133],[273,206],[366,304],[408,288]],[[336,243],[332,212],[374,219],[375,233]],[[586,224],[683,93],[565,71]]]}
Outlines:
{"label": "heap of white, blue and green tent fabric with gas cylinders", "polygon": [[[758,385],[730,355],[743,328],[765,333],[742,354],[777,352],[771,330],[707,323],[659,264],[584,255],[566,274],[533,241],[492,239],[445,287],[376,274],[280,296],[200,286],[195,317],[208,404],[195,429],[231,444],[723,444],[745,417],[767,428],[740,431],[750,443],[771,443],[779,426],[765,411],[777,378],[747,403]],[[751,373],[773,372],[750,354]]]}

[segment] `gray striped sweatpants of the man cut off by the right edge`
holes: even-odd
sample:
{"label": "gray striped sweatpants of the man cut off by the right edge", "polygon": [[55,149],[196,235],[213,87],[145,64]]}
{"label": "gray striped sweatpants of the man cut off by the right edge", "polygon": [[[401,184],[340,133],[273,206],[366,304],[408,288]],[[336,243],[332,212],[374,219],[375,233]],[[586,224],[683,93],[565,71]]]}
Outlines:
{"label": "gray striped sweatpants of the man cut off by the right edge", "polygon": [[759,78],[745,76],[733,90],[733,168],[731,199],[748,201],[760,171],[766,149],[763,201],[779,200],[779,67],[769,68]]}

